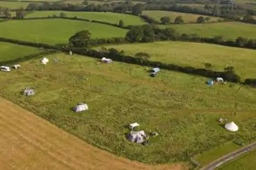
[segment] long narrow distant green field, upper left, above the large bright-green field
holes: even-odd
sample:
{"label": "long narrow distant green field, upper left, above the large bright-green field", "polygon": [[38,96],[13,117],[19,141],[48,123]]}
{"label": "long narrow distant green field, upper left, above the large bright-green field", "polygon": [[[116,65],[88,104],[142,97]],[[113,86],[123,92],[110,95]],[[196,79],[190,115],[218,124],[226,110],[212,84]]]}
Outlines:
{"label": "long narrow distant green field, upper left, above the large bright-green field", "polygon": [[[60,12],[62,11],[38,11],[28,14],[26,17],[48,17],[53,16],[60,16]],[[104,21],[108,23],[116,23],[118,24],[119,21],[122,19],[125,22],[125,25],[141,25],[143,22],[139,17],[130,14],[118,14],[118,13],[111,13],[111,12],[64,12],[66,13],[67,17],[79,17],[82,19],[89,19],[89,20],[97,20],[97,21]]]}

